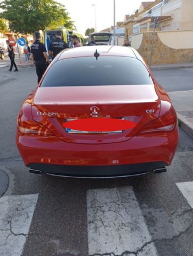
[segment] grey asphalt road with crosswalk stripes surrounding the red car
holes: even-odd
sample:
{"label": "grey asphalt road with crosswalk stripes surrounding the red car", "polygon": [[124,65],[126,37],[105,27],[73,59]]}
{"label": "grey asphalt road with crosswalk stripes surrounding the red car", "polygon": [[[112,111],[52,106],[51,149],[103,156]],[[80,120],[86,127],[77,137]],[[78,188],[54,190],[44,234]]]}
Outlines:
{"label": "grey asphalt road with crosswalk stripes surrounding the red car", "polygon": [[[191,70],[154,73],[167,91],[184,91],[191,87]],[[0,68],[0,77],[0,256],[193,255],[193,140],[186,133],[180,130],[163,174],[37,177],[15,146],[17,114],[36,86],[35,69]]]}

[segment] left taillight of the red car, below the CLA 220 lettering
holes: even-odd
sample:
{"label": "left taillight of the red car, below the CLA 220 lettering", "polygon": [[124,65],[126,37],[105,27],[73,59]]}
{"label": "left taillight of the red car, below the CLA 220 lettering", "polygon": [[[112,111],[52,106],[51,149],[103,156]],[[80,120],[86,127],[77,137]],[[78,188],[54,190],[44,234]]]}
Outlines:
{"label": "left taillight of the red car, below the CLA 220 lettering", "polygon": [[53,133],[44,125],[31,120],[21,112],[18,115],[18,129],[23,134],[39,135],[39,136],[54,136]]}

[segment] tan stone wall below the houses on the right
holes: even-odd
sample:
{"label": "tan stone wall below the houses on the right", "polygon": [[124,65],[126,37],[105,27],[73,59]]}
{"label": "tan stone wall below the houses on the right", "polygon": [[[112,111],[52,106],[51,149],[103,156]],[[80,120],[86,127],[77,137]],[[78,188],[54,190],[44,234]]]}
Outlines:
{"label": "tan stone wall below the houses on the right", "polygon": [[[175,31],[176,32],[176,31]],[[181,31],[179,31],[180,33]],[[190,33],[193,31],[190,30]],[[186,37],[184,40],[184,48],[181,49],[173,49],[168,45],[165,45],[158,36],[159,33],[164,32],[156,32],[154,36],[154,51],[152,54],[152,62],[151,65],[164,65],[164,64],[177,64],[177,63],[189,63],[193,62],[193,39],[192,39],[192,48],[191,42],[189,47],[187,48]],[[172,31],[171,31],[172,33]],[[140,43],[136,42],[136,37],[140,39]],[[168,37],[172,36],[172,34],[167,34]],[[180,34],[179,34],[180,36]],[[135,37],[135,38],[134,38]],[[193,38],[193,37],[192,37]],[[174,40],[176,40],[174,38]],[[168,41],[169,42],[169,41]],[[132,35],[131,45],[136,49],[144,58],[144,60],[149,63],[150,52],[151,52],[151,43],[152,43],[152,33],[143,33],[142,36]],[[139,46],[140,45],[140,46]],[[180,44],[179,44],[180,45]],[[185,46],[186,45],[186,46]],[[180,45],[182,46],[182,44]]]}

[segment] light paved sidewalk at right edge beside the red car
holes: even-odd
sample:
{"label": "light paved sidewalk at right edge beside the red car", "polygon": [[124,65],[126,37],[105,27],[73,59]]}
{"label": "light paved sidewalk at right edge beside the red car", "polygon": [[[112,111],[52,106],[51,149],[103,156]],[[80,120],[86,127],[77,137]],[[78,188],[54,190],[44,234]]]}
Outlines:
{"label": "light paved sidewalk at right edge beside the red car", "polygon": [[180,127],[193,138],[193,90],[168,94],[178,114]]}

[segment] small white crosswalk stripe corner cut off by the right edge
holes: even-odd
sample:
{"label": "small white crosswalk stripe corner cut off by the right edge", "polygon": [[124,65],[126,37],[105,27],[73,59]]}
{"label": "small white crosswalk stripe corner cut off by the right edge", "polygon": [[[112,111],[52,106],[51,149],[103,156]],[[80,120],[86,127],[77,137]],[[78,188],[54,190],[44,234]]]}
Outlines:
{"label": "small white crosswalk stripe corner cut off by the right edge", "polygon": [[176,186],[180,189],[181,193],[193,209],[193,181],[179,182],[176,183]]}

